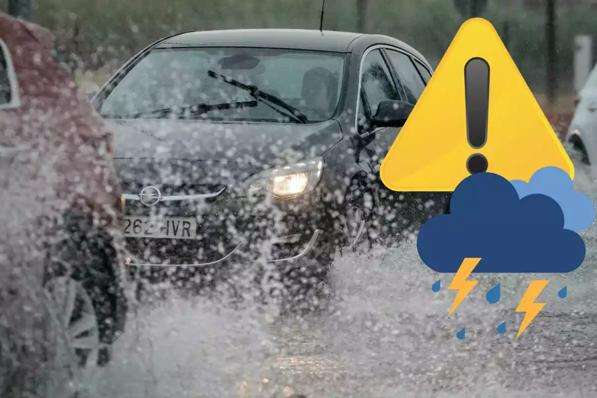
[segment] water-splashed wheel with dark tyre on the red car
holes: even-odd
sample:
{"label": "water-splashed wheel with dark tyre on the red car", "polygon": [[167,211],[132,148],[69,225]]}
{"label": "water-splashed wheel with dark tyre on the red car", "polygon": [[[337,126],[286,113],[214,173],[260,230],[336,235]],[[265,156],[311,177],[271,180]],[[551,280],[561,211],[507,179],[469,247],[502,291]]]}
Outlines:
{"label": "water-splashed wheel with dark tyre on the red car", "polygon": [[[93,225],[90,215],[79,213],[67,214],[56,234],[59,240],[48,248],[44,277],[48,308],[62,311],[61,326],[70,334],[69,346],[79,367],[104,366],[110,360],[112,343],[124,331],[128,309],[113,239]],[[66,293],[70,295],[64,296]],[[73,305],[69,311],[68,306]],[[82,327],[77,324],[81,316],[85,316],[88,330],[79,337],[90,337],[97,331],[96,347],[79,349],[80,342],[73,341],[77,337],[73,332]],[[95,319],[95,325],[91,319]]]}

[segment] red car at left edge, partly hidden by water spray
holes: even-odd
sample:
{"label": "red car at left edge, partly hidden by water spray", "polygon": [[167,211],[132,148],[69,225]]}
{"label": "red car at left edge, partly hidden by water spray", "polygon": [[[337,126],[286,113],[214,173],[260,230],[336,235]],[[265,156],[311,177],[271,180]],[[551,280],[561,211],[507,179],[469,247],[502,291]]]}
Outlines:
{"label": "red car at left edge, partly hidden by water spray", "polygon": [[56,61],[53,35],[2,13],[0,131],[2,335],[36,340],[29,326],[45,314],[77,365],[105,365],[128,308],[112,134]]}

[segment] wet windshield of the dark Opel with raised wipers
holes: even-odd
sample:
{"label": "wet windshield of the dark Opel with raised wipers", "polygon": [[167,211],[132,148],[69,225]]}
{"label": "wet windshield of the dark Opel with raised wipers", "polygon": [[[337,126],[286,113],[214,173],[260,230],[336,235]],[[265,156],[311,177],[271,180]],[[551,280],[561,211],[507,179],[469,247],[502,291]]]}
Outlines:
{"label": "wet windshield of the dark Opel with raised wipers", "polygon": [[173,109],[195,106],[187,116],[320,122],[336,111],[343,68],[344,54],[322,51],[156,49],[124,76],[99,110],[104,118],[167,118]]}

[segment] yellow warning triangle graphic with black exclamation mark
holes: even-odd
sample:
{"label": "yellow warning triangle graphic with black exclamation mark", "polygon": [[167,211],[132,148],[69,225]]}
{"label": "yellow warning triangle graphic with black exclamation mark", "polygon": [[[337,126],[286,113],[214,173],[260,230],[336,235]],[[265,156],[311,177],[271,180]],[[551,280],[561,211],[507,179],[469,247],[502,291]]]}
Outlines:
{"label": "yellow warning triangle graphic with black exclamation mark", "polygon": [[[489,66],[487,135],[479,149],[467,135],[464,69],[472,58]],[[469,90],[481,86],[469,83]],[[458,30],[381,164],[381,180],[395,191],[452,192],[470,175],[467,161],[477,153],[487,159],[488,172],[508,180],[528,181],[545,166],[574,178],[558,136],[496,30],[482,18]]]}

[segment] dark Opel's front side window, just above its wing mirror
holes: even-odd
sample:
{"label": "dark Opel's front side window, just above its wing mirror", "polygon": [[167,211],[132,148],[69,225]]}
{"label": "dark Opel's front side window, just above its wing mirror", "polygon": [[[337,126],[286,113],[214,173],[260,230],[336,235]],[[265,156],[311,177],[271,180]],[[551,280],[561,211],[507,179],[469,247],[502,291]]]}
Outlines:
{"label": "dark Opel's front side window, just above its wing mirror", "polygon": [[365,57],[361,87],[370,115],[376,114],[381,101],[400,99],[380,50],[373,50]]}

